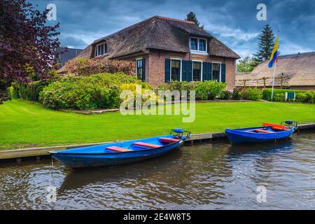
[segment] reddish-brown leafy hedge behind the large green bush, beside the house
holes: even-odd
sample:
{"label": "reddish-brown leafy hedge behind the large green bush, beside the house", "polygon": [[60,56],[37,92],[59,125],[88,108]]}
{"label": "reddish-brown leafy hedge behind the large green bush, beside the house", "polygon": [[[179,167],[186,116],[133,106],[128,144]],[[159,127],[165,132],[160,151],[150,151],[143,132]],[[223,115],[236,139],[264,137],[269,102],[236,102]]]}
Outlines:
{"label": "reddish-brown leafy hedge behind the large green bush, beside the house", "polygon": [[123,72],[127,75],[134,76],[136,73],[134,62],[104,58],[72,59],[66,62],[64,69],[67,71],[67,73],[75,73],[79,76],[88,76],[96,73],[117,72]]}

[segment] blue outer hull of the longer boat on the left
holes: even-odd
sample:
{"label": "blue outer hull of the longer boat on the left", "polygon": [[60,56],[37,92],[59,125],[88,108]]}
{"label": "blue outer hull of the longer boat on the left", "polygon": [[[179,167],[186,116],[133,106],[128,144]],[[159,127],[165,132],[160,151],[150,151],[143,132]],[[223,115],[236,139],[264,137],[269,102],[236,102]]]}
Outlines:
{"label": "blue outer hull of the longer boat on the left", "polygon": [[139,162],[176,151],[183,145],[183,140],[174,144],[141,151],[123,153],[52,153],[52,158],[66,167],[79,169],[85,167],[112,167],[132,162]]}

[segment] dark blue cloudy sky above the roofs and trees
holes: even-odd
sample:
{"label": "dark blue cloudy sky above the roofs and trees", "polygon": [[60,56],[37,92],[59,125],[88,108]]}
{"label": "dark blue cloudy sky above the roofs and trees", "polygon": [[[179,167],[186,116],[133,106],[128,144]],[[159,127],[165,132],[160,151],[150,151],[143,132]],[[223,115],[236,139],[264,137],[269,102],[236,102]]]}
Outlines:
{"label": "dark blue cloudy sky above the roofs and trees", "polygon": [[[200,25],[241,57],[257,51],[258,34],[268,23],[280,31],[281,55],[315,50],[315,1],[311,0],[29,0],[43,10],[57,6],[60,39],[64,46],[85,48],[97,38],[112,34],[136,22],[162,15],[185,19],[196,13]],[[258,3],[267,6],[267,20],[258,21]],[[49,22],[53,24],[55,22]]]}

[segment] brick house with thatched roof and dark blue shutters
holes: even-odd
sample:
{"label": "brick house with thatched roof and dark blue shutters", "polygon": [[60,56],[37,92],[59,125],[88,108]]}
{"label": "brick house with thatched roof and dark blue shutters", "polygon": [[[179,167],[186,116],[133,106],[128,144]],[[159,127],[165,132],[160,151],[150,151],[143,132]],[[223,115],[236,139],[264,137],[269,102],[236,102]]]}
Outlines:
{"label": "brick house with thatched roof and dark blue shutters", "polygon": [[235,86],[239,55],[194,22],[153,16],[95,40],[78,57],[135,62],[137,76],[152,85],[172,80],[216,80]]}

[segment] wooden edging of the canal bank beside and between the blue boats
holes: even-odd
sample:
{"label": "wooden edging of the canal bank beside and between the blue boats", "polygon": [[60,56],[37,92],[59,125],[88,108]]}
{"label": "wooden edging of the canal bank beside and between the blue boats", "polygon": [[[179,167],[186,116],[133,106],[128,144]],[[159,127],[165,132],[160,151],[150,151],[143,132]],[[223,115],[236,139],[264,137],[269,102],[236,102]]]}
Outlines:
{"label": "wooden edging of the canal bank beside and between the blue boats", "polygon": [[[315,123],[298,125],[298,130],[312,130],[315,129]],[[221,140],[226,139],[225,132],[201,133],[192,134],[188,141],[185,141],[185,146],[191,146],[203,141]],[[85,146],[97,146],[102,144],[113,143],[114,141],[99,142],[93,144],[77,144],[68,146],[50,146],[40,148],[21,148],[13,150],[0,151],[0,162],[12,162],[21,160],[39,160],[41,157],[49,157],[49,151],[59,151],[69,148],[80,148]]]}

